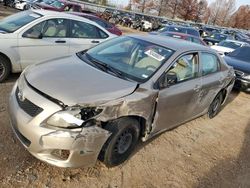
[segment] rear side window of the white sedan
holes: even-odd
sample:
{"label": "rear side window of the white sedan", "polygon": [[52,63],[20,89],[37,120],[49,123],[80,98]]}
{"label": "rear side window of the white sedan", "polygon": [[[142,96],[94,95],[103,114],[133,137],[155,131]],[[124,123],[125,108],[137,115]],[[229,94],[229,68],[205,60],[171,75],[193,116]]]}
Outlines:
{"label": "rear side window of the white sedan", "polygon": [[79,21],[72,21],[71,37],[73,38],[107,38],[108,35],[98,27]]}

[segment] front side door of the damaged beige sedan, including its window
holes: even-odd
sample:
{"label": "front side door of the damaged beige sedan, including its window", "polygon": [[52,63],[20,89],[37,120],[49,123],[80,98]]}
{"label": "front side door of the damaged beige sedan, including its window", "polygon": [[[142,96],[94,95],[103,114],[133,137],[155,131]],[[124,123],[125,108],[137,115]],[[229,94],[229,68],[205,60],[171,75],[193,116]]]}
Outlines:
{"label": "front side door of the damaged beige sedan, including its window", "polygon": [[159,90],[153,134],[174,128],[200,113],[199,74],[198,53],[190,53],[178,58],[162,75],[164,84]]}

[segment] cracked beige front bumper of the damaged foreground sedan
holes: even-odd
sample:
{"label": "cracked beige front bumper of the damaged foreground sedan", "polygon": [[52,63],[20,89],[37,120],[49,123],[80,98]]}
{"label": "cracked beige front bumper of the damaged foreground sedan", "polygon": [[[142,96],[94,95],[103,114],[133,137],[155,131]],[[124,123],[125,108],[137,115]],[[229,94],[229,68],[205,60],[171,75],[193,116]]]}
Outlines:
{"label": "cracked beige front bumper of the damaged foreground sedan", "polygon": [[44,127],[42,122],[60,107],[25,85],[24,96],[44,109],[31,117],[20,108],[16,88],[17,84],[9,99],[10,121],[17,138],[33,156],[58,167],[87,167],[96,163],[110,132],[96,125],[79,129]]}

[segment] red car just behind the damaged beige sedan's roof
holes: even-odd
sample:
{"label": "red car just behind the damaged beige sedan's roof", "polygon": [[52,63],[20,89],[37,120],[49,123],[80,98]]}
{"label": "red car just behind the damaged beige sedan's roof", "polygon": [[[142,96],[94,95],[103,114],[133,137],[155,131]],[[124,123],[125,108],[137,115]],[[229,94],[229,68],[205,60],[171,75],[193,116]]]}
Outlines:
{"label": "red car just behind the damaged beige sedan's roof", "polygon": [[177,39],[183,39],[183,40],[187,40],[187,41],[194,42],[197,44],[201,44],[203,46],[207,46],[207,44],[201,38],[195,37],[193,35],[185,34],[185,33],[163,32],[160,35],[173,37],[173,38],[177,38]]}

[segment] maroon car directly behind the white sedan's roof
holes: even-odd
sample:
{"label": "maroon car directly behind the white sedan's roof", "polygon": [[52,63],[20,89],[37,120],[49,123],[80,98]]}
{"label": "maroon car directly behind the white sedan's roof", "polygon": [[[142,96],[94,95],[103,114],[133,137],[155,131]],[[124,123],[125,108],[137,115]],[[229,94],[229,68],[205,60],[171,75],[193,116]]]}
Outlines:
{"label": "maroon car directly behind the white sedan's roof", "polygon": [[111,23],[99,18],[98,16],[95,16],[93,14],[85,14],[85,13],[81,13],[81,12],[71,12],[70,14],[74,14],[74,15],[81,16],[81,17],[87,18],[89,20],[92,20],[93,22],[96,22],[98,25],[107,29],[110,33],[113,33],[113,34],[118,35],[118,36],[122,35],[122,31],[120,29],[118,29],[114,24],[111,24]]}

